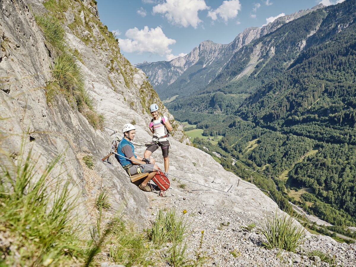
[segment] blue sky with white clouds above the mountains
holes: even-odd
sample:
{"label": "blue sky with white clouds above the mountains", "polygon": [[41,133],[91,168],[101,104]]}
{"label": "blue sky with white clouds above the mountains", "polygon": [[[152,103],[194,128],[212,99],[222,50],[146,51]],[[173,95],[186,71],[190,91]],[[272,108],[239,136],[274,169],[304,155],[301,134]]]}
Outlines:
{"label": "blue sky with white clouds above the mountains", "polygon": [[[171,60],[204,40],[230,43],[266,19],[341,0],[98,0],[100,20],[115,31],[132,64]],[[187,8],[189,7],[189,8]]]}

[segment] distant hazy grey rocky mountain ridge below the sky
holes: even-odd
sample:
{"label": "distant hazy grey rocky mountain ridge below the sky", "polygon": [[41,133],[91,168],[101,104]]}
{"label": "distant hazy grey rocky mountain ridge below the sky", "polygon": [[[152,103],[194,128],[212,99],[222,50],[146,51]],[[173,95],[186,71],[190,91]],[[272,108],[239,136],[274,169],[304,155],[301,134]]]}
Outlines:
{"label": "distant hazy grey rocky mountain ridge below the sky", "polygon": [[184,57],[169,62],[143,62],[136,67],[148,75],[148,79],[162,99],[192,93],[206,87],[241,47],[323,6],[319,4],[312,9],[279,17],[263,27],[246,28],[227,45],[204,41]]}

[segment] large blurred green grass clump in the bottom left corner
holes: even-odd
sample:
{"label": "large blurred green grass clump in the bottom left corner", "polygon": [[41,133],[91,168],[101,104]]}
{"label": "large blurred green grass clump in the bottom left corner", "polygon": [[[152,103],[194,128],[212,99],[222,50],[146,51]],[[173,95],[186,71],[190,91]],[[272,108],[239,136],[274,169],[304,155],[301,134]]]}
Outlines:
{"label": "large blurred green grass clump in the bottom left corner", "polygon": [[0,246],[0,265],[72,266],[84,262],[88,243],[72,216],[74,199],[68,184],[63,187],[60,177],[52,175],[60,157],[40,169],[36,167],[40,159],[33,160],[31,150],[26,155],[21,146],[16,163],[10,157],[0,162],[0,229],[9,237],[9,246]]}

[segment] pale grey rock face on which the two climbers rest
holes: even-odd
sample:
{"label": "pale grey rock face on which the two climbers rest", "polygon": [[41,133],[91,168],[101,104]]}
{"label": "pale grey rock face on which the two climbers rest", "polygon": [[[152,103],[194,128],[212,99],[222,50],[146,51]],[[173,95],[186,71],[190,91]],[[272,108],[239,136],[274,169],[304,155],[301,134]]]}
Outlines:
{"label": "pale grey rock face on which the two climbers rest", "polygon": [[[233,221],[236,227],[251,221],[258,223],[264,214],[276,211],[276,203],[254,185],[242,181],[237,185],[238,177],[225,171],[206,153],[185,144],[187,140],[152,90],[146,75],[142,70],[132,67],[120,54],[115,40],[99,21],[92,1],[1,1],[0,8],[0,159],[9,164],[18,161],[21,143],[26,143],[26,151],[32,149],[32,156],[38,158],[38,178],[46,164],[63,153],[63,163],[56,165],[53,173],[61,174],[59,182],[63,186],[69,183],[76,204],[75,218],[78,221],[84,225],[95,221],[95,216],[91,216],[93,206],[90,203],[103,188],[110,194],[110,212],[115,214],[118,210],[124,210],[125,219],[142,227],[147,227],[148,216],[154,215],[156,211],[152,210],[158,207],[176,206],[179,211],[196,211],[204,215],[189,217],[196,227],[192,231],[199,232],[201,227],[205,227],[204,223],[208,224],[205,229],[211,232],[209,240],[219,241],[209,241],[204,246],[209,253],[214,251],[214,257],[219,259],[215,265],[226,265],[232,255],[229,253],[232,242],[239,240],[231,239],[232,230],[221,234],[220,230],[214,231],[214,227],[219,227],[224,220]],[[135,123],[135,142],[148,142],[151,135],[147,127],[150,121],[147,107],[152,102],[158,102],[175,128],[174,138],[171,140],[170,172],[178,178],[229,193],[205,191],[204,187],[197,184],[189,184],[186,190],[181,190],[178,181],[172,179],[169,198],[157,199],[156,194],[143,193],[131,184],[114,158],[111,158],[112,164],[102,162],[101,158],[109,152],[111,132],[95,130],[90,117],[83,110],[78,110],[75,103],[68,102],[68,95],[64,92],[58,92],[52,101],[48,101],[48,84],[53,81],[56,56],[33,14],[56,16],[60,21],[66,33],[67,44],[75,52],[77,64],[84,74],[84,87],[93,99],[93,110],[104,116],[105,126],[120,131],[124,124]],[[211,47],[211,50],[214,49]],[[120,133],[118,135],[121,136]],[[142,155],[143,151],[142,146],[137,146],[138,154]],[[163,159],[159,154],[157,151],[153,156],[162,168]],[[85,155],[93,156],[94,170],[85,167]],[[149,201],[152,199],[157,201]],[[180,202],[183,200],[187,202]],[[198,209],[201,209],[200,212]],[[242,238],[243,233],[240,230],[239,232]],[[227,239],[222,238],[225,235],[230,245],[225,244]],[[327,241],[328,239],[325,242]],[[258,242],[260,241],[256,241],[256,244]],[[251,248],[253,251],[256,248],[258,252],[258,245],[249,244],[249,241],[241,242],[239,246],[246,249],[246,253]],[[224,251],[224,256],[220,252],[216,254],[216,249]],[[337,248],[337,252],[342,249],[343,247]],[[255,264],[252,257],[245,254],[241,254],[242,257],[236,261],[241,264]],[[277,251],[274,251],[271,255],[276,254]],[[262,260],[263,257],[258,262]],[[213,264],[212,261],[209,264]],[[234,265],[234,261],[231,264]]]}

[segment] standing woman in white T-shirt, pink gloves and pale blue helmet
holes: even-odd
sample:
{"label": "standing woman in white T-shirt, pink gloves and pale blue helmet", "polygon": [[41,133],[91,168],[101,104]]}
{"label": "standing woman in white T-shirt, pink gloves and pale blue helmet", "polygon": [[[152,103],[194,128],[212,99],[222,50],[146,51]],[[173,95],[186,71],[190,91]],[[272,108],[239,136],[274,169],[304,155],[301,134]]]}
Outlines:
{"label": "standing woman in white T-shirt, pink gloves and pale blue helmet", "polygon": [[158,105],[152,104],[150,106],[151,115],[153,119],[150,123],[150,131],[153,133],[152,142],[147,144],[147,148],[143,156],[145,158],[149,158],[153,152],[155,152],[159,147],[162,149],[162,156],[164,159],[164,172],[168,173],[169,168],[169,158],[168,158],[168,150],[169,150],[169,131],[172,131],[172,125],[169,123],[169,120],[166,116],[161,116],[158,111]]}

